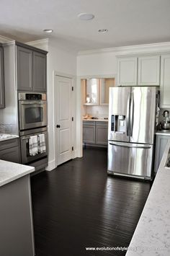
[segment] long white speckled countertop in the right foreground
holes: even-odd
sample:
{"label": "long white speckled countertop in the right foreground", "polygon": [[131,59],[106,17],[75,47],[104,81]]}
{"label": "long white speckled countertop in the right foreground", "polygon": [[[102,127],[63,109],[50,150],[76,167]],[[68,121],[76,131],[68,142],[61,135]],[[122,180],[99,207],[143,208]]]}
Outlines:
{"label": "long white speckled countertop in the right foreground", "polygon": [[170,140],[126,256],[170,255],[170,168],[164,167]]}

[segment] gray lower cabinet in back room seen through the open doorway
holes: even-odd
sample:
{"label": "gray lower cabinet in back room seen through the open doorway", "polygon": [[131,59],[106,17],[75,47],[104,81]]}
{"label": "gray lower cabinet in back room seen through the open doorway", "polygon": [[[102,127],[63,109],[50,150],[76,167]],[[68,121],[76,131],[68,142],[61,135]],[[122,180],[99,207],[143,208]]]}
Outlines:
{"label": "gray lower cabinet in back room seen through the open doorway", "polygon": [[108,123],[83,121],[83,143],[93,146],[107,146]]}

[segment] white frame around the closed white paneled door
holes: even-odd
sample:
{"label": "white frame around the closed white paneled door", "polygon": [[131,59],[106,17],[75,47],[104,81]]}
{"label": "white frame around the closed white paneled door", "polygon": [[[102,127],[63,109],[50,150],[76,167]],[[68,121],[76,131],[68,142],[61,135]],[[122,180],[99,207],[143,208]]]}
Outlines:
{"label": "white frame around the closed white paneled door", "polygon": [[[72,87],[73,87],[73,94],[72,94],[72,116],[73,116],[73,122],[72,122],[72,131],[71,131],[71,141],[73,145],[73,152],[72,152],[72,159],[76,157],[76,76],[73,76],[71,74],[65,74],[58,71],[53,71],[53,110],[56,110],[57,103],[55,101],[55,76],[61,76],[72,80]],[[53,131],[54,131],[54,156],[55,156],[55,167],[58,166],[58,159],[57,159],[57,134],[56,134],[56,115],[53,115]]]}

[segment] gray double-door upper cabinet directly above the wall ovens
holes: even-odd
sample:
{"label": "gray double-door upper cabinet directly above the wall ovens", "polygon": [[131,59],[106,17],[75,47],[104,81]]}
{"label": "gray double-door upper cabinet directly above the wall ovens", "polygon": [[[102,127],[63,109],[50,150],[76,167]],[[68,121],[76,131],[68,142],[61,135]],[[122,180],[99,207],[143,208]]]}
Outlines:
{"label": "gray double-door upper cabinet directly above the wall ovens", "polygon": [[17,89],[47,91],[47,56],[38,50],[17,45]]}

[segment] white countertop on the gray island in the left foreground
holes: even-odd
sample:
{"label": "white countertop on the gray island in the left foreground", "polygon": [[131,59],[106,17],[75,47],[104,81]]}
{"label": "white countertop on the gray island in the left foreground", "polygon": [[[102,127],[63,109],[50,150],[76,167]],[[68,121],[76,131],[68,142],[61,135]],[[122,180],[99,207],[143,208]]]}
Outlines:
{"label": "white countertop on the gray island in the left foreground", "polygon": [[0,160],[0,187],[34,171],[35,167]]}

